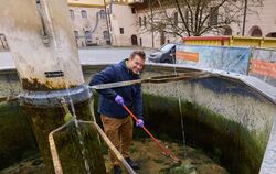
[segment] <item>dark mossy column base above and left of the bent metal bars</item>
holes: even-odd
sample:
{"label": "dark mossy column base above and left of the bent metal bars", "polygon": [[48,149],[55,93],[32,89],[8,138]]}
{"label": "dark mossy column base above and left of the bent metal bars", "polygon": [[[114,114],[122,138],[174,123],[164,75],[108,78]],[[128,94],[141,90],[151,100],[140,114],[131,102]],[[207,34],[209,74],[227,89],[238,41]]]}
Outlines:
{"label": "dark mossy column base above and left of the bent metal bars", "polygon": [[[92,119],[89,100],[74,105],[77,119],[89,121]],[[64,110],[61,107],[56,108],[39,108],[33,106],[24,106],[24,111],[29,115],[32,130],[40,149],[40,154],[46,165],[49,173],[54,171],[52,156],[49,146],[49,134],[56,128],[63,126]],[[61,159],[62,161],[63,159]]]}

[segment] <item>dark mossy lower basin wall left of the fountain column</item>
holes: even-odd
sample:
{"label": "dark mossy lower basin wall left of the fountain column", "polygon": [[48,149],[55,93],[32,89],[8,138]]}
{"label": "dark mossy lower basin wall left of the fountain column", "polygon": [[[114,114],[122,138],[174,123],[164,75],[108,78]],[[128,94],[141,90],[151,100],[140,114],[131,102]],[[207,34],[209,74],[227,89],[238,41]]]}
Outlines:
{"label": "dark mossy lower basin wall left of the fountain column", "polygon": [[38,153],[26,116],[18,101],[0,104],[0,170]]}

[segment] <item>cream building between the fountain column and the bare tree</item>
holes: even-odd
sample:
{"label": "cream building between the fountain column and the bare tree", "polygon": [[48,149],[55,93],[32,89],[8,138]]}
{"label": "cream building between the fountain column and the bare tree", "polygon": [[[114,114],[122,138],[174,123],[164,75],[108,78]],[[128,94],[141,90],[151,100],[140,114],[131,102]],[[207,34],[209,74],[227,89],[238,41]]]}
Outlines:
{"label": "cream building between the fountain column and the bare tree", "polygon": [[137,10],[142,0],[67,0],[78,47],[139,45]]}

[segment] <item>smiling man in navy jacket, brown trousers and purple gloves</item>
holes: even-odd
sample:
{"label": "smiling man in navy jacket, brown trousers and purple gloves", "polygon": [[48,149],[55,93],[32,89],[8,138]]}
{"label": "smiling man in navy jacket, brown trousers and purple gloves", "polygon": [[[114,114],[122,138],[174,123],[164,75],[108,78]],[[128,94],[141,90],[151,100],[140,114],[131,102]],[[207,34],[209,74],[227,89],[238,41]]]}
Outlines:
{"label": "smiling man in navy jacket, brown trousers and purple gloves", "polygon": [[[96,74],[89,81],[89,85],[140,79],[139,74],[142,70],[145,58],[144,52],[135,51],[129,58],[124,59],[119,64],[108,66],[103,72]],[[138,118],[136,126],[144,127],[141,85],[97,91],[99,93],[98,112],[100,113],[106,135],[121,152],[128,164],[132,168],[139,168],[138,164],[131,161],[129,154],[129,146],[132,140],[132,118],[124,109],[123,105],[134,109]],[[114,174],[121,173],[119,163],[113,154],[110,154],[110,161],[114,166]]]}

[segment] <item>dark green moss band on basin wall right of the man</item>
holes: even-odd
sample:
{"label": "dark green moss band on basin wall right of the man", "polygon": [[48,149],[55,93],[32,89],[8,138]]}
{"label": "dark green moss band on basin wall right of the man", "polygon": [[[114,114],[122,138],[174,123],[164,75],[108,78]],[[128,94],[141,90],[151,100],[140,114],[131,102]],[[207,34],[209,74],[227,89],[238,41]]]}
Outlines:
{"label": "dark green moss band on basin wall right of the man", "polygon": [[[181,106],[189,144],[202,148],[231,173],[258,173],[265,149],[253,133],[198,104]],[[182,142],[178,99],[144,94],[144,112],[147,128],[158,138]]]}

